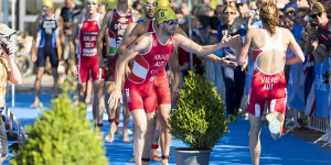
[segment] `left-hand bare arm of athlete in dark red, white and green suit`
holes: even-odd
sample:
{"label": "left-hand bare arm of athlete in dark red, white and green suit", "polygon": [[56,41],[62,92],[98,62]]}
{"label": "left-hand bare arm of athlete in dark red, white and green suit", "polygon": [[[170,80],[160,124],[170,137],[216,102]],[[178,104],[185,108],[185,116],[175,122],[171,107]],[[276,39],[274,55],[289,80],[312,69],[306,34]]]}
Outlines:
{"label": "left-hand bare arm of athlete in dark red, white and green suit", "polygon": [[102,68],[106,67],[103,57],[103,38],[105,36],[106,30],[108,29],[111,15],[113,15],[111,10],[108,10],[103,19],[103,25],[97,37],[97,52],[98,52],[98,61],[99,61],[98,63],[99,63],[99,67]]}

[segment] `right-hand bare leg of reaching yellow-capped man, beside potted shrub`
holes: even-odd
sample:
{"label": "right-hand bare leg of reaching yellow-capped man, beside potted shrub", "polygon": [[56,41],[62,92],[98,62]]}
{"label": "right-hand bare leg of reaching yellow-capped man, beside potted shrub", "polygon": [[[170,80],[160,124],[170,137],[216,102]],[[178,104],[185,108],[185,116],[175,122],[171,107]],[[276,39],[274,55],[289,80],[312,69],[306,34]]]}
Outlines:
{"label": "right-hand bare leg of reaching yellow-capped man, beside potted shrub", "polygon": [[[160,105],[158,110],[158,120],[160,120],[160,145],[162,156],[169,156],[171,134],[168,131],[168,119],[171,110],[171,105]],[[168,165],[168,160],[162,160],[162,165]]]}

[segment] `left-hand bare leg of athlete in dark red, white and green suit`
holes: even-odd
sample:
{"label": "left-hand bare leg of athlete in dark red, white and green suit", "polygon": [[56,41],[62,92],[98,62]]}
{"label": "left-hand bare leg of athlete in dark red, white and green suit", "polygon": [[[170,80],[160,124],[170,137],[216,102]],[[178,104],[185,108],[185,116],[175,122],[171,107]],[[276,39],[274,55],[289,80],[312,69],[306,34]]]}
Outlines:
{"label": "left-hand bare leg of athlete in dark red, white and green suit", "polygon": [[[116,110],[113,110],[109,108],[108,105],[108,99],[110,97],[111,91],[115,89],[115,82],[114,81],[105,81],[105,103],[106,103],[106,109],[108,113],[108,120],[109,120],[109,131],[108,134],[105,138],[106,142],[111,143],[114,141],[114,134],[116,132],[117,125],[115,122],[115,112]],[[117,107],[117,109],[120,108],[120,105]]]}

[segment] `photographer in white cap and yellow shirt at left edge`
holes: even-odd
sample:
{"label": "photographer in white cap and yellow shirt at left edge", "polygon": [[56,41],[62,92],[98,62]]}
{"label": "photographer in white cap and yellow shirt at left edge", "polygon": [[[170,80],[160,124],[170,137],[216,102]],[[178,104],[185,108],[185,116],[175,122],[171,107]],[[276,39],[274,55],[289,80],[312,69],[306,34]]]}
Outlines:
{"label": "photographer in white cap and yellow shirt at left edge", "polygon": [[[0,113],[4,109],[7,80],[10,80],[13,85],[22,84],[21,73],[14,63],[14,56],[12,55],[11,43],[9,37],[14,33],[6,24],[0,23],[0,40],[1,43],[6,43],[7,47],[0,46]],[[2,44],[1,44],[2,45]],[[8,51],[4,51],[4,50]],[[2,118],[0,119],[0,164],[2,164],[8,155],[8,139]]]}

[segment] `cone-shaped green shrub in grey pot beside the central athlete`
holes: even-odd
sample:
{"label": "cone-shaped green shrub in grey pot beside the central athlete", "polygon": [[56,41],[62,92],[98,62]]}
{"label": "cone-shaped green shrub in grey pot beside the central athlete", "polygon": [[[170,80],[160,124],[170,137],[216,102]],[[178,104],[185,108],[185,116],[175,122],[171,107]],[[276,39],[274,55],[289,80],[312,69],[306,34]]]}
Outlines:
{"label": "cone-shaped green shrub in grey pot beside the central athlete", "polygon": [[179,95],[177,109],[169,117],[169,129],[189,147],[173,150],[175,163],[209,164],[212,147],[227,132],[224,102],[212,82],[194,72],[189,73]]}

